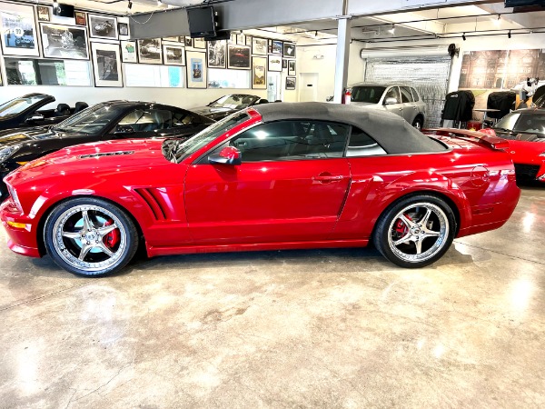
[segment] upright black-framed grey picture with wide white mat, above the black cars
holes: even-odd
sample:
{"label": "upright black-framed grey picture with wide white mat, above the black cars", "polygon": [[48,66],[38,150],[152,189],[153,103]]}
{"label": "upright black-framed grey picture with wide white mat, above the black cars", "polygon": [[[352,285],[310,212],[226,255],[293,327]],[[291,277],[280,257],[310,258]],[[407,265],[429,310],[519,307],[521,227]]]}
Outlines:
{"label": "upright black-framed grey picture with wide white mat, above the black cars", "polygon": [[94,86],[123,86],[119,45],[91,43]]}

